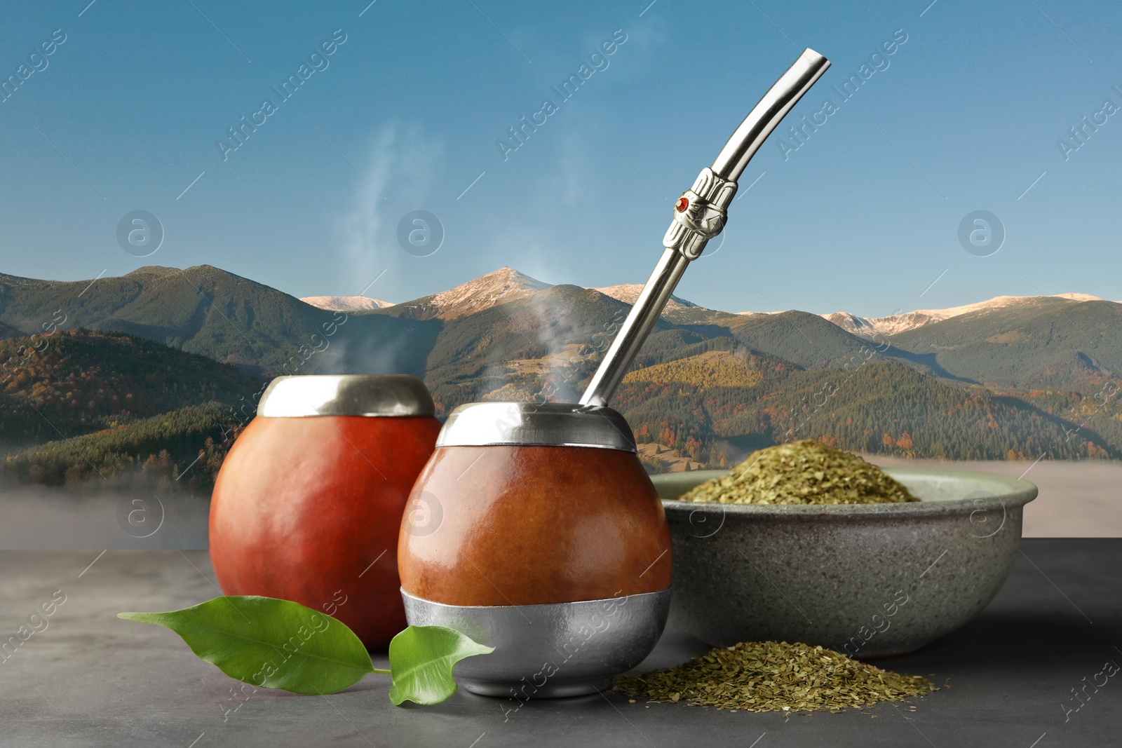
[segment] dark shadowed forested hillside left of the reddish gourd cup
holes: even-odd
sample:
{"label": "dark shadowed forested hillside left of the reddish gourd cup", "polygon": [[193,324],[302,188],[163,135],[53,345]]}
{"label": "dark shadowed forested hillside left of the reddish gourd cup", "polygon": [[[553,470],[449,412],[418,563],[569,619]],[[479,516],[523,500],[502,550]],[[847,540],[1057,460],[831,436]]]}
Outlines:
{"label": "dark shadowed forested hillside left of the reddish gourd cup", "polygon": [[230,364],[119,332],[0,341],[2,473],[209,492],[263,386]]}

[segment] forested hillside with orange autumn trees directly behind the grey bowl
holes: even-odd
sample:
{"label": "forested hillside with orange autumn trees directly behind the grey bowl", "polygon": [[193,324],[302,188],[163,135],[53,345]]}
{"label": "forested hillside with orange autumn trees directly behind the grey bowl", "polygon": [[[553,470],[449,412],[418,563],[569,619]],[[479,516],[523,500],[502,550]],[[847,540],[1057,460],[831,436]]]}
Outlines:
{"label": "forested hillside with orange autumn trees directly behind the grey bowl", "polygon": [[[699,357],[695,357],[697,359]],[[688,359],[687,361],[692,361]],[[951,460],[1122,456],[1119,441],[1015,397],[940,382],[894,361],[845,370],[766,370],[746,387],[699,388],[665,364],[627,375],[615,406],[641,442],[719,467],[791,438],[855,452]],[[748,368],[755,376],[757,369]],[[1122,425],[1122,424],[1120,424]]]}

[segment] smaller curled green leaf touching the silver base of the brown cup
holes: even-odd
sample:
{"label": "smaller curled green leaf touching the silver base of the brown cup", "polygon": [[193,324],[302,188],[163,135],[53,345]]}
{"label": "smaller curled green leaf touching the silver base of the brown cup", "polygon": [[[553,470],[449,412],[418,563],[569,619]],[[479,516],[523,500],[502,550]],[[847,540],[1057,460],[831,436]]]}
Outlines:
{"label": "smaller curled green leaf touching the silver base of the brown cup", "polygon": [[452,666],[472,655],[486,655],[495,647],[476,644],[454,628],[410,626],[389,643],[389,667],[394,685],[389,700],[439,704],[456,693]]}

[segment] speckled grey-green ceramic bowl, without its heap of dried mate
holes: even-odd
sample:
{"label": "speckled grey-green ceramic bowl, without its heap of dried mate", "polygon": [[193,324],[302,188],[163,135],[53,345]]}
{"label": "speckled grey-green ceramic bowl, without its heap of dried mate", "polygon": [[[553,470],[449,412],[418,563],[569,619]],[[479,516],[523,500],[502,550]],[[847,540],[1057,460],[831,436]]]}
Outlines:
{"label": "speckled grey-green ceramic bowl, without its heap of dried mate", "polygon": [[856,657],[946,636],[997,594],[1013,565],[1027,480],[885,469],[907,504],[693,504],[721,470],[654,475],[673,538],[670,626],[712,646],[787,640]]}

